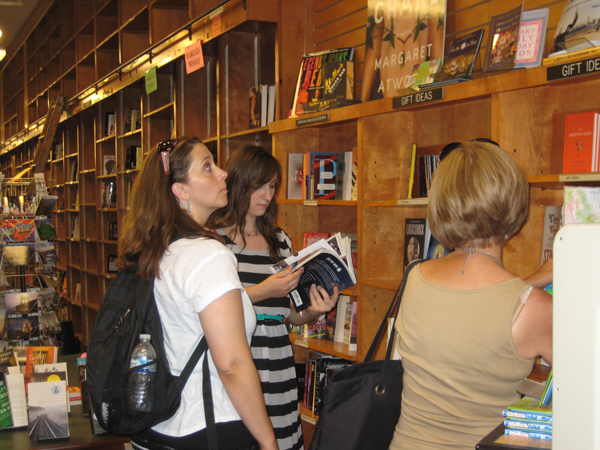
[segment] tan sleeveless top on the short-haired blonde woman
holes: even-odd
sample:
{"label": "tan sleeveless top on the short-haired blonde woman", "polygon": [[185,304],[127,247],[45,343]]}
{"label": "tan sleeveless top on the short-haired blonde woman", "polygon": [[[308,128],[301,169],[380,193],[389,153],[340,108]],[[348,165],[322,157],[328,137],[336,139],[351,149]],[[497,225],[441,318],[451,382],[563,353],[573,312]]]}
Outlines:
{"label": "tan sleeveless top on the short-haired blonde woman", "polygon": [[513,316],[531,289],[515,278],[458,291],[412,271],[396,321],[405,373],[390,449],[473,450],[502,421],[533,367],[512,339]]}

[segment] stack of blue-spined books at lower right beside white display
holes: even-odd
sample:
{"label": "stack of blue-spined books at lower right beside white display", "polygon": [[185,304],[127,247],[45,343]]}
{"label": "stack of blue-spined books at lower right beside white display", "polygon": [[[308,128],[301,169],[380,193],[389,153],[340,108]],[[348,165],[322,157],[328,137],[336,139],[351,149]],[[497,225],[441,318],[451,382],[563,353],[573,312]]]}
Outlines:
{"label": "stack of blue-spined books at lower right beside white display", "polygon": [[502,411],[505,434],[552,440],[552,370],[541,398],[524,396]]}

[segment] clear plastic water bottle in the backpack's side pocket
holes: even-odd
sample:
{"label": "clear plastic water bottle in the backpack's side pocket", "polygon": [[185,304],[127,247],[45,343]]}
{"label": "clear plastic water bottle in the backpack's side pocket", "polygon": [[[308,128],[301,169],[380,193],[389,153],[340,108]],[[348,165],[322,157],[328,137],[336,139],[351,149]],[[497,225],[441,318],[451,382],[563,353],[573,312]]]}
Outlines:
{"label": "clear plastic water bottle in the backpack's side pocket", "polygon": [[[148,364],[151,363],[151,364]],[[130,411],[150,412],[154,406],[154,379],[156,378],[156,351],[150,344],[149,334],[140,334],[140,343],[131,353],[127,403]]]}

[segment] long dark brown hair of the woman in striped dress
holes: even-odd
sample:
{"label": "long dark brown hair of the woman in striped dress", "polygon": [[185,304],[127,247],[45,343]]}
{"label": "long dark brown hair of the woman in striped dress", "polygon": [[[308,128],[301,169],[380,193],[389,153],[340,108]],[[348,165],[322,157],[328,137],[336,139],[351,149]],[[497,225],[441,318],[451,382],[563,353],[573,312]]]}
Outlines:
{"label": "long dark brown hair of the woman in striped dress", "polygon": [[275,195],[265,213],[256,218],[256,226],[269,245],[269,255],[273,261],[279,261],[279,240],[275,232],[275,223],[279,214],[276,196],[281,185],[281,164],[262,147],[248,145],[234,152],[227,161],[227,190],[229,203],[215,211],[208,219],[210,228],[233,227],[233,236],[242,236],[244,247],[244,227],[246,214],[250,207],[250,197],[261,186],[276,178]]}

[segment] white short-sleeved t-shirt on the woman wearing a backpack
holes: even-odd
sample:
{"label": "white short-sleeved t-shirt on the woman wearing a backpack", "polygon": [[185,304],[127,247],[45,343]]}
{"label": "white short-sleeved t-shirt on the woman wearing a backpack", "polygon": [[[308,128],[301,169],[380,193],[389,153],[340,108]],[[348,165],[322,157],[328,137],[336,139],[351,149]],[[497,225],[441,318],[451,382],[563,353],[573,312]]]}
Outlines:
{"label": "white short-sleeved t-shirt on the woman wearing a backpack", "polygon": [[[246,336],[250,344],[256,328],[256,314],[238,277],[235,256],[229,249],[213,239],[179,239],[165,252],[159,271],[160,279],[154,281],[154,296],[173,375],[181,373],[204,336],[198,313],[234,289],[239,289],[242,294]],[[175,415],[154,426],[154,431],[168,436],[186,436],[206,428],[202,398],[203,359],[188,379]],[[209,367],[216,422],[240,420],[217,374],[210,351]]]}

